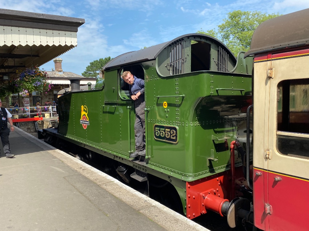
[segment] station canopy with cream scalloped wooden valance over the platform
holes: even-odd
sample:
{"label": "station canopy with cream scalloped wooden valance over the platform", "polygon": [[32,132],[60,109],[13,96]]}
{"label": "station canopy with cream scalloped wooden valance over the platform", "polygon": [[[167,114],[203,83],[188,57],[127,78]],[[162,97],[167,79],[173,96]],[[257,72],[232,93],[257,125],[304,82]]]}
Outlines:
{"label": "station canopy with cream scalloped wooden valance over the platform", "polygon": [[0,9],[0,79],[77,46],[83,18]]}

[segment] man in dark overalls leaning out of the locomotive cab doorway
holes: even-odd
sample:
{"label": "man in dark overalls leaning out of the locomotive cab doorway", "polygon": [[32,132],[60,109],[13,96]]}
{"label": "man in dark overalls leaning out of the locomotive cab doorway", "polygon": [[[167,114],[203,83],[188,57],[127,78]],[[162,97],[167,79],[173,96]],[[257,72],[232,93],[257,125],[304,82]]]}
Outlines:
{"label": "man in dark overalls leaning out of the locomotive cab doorway", "polygon": [[135,107],[135,152],[130,155],[130,158],[146,156],[146,139],[145,139],[145,83],[143,79],[138,79],[131,74],[130,71],[125,71],[122,74],[122,79],[130,85],[130,98],[134,100]]}

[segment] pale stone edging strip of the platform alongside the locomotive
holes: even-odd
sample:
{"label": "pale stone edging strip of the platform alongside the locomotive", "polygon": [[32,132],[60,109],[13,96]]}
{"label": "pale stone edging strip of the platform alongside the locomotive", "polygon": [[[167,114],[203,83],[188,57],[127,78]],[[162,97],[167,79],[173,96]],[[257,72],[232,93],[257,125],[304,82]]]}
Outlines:
{"label": "pale stone edging strip of the platform alongside the locomotive", "polygon": [[89,180],[95,182],[101,188],[108,191],[108,193],[112,194],[119,200],[124,201],[126,204],[144,214],[146,217],[162,226],[164,229],[170,231],[210,231],[209,229],[206,229],[203,226],[189,220],[181,214],[176,213],[164,205],[161,205],[159,202],[150,199],[149,197],[139,193],[138,191],[130,188],[125,184],[122,184],[120,181],[111,176],[108,176],[104,172],[101,172],[96,168],[93,168],[92,166],[82,162],[81,160],[78,160],[73,156],[62,152],[61,150],[46,144],[44,141],[37,139],[27,132],[24,132],[23,130],[16,127],[15,132],[32,141],[40,148],[43,148],[51,155],[57,157],[63,163],[70,166],[70,168],[87,177]]}

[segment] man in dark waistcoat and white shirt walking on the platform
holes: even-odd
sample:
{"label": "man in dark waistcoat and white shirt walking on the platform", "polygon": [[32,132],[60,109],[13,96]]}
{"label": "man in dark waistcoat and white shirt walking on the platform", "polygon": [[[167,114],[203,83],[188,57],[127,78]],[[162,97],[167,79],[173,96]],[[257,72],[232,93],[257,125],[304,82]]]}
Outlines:
{"label": "man in dark waistcoat and white shirt walking on the platform", "polygon": [[[2,102],[0,99],[0,138],[3,146],[3,151],[6,154],[6,158],[12,158],[15,155],[11,154],[9,135],[10,129],[7,127],[7,121],[11,125],[11,132],[14,132],[13,120],[11,113],[4,107],[2,107]],[[1,157],[1,155],[0,155]]]}

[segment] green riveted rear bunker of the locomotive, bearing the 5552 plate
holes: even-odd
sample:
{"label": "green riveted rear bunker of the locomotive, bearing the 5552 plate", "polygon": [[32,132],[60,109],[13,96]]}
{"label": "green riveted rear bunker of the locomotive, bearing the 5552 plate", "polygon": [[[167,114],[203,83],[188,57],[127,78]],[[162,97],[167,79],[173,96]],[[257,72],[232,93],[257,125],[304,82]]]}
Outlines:
{"label": "green riveted rear bunker of the locomotive, bearing the 5552 plate", "polygon": [[[150,165],[186,181],[230,168],[229,143],[239,136],[244,120],[239,114],[251,99],[251,76],[196,72],[147,79],[146,89]],[[155,125],[175,128],[178,142],[155,139]]]}

